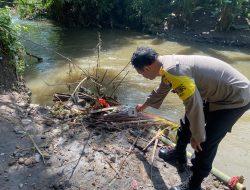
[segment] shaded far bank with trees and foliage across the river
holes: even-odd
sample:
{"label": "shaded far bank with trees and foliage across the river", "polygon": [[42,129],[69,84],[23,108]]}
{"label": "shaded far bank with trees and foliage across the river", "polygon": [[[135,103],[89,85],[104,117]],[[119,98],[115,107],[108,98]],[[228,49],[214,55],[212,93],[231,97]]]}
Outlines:
{"label": "shaded far bank with trees and foliage across the river", "polygon": [[17,0],[22,18],[133,29],[179,41],[250,47],[249,0]]}

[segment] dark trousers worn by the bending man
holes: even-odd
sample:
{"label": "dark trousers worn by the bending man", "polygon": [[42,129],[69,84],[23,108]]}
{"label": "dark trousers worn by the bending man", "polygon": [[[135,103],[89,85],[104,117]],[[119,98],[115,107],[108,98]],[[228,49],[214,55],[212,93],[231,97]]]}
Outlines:
{"label": "dark trousers worn by the bending man", "polygon": [[[202,151],[195,152],[192,161],[193,182],[198,184],[208,176],[212,169],[212,164],[218,149],[218,145],[225,137],[227,132],[231,132],[232,126],[236,121],[250,109],[250,103],[247,106],[235,109],[224,109],[209,112],[208,104],[204,106],[206,118],[206,141],[201,144]],[[176,150],[179,153],[185,153],[187,144],[190,143],[191,132],[189,129],[189,121],[185,116],[185,123],[181,122],[181,126],[177,132]],[[198,185],[197,184],[197,185]]]}

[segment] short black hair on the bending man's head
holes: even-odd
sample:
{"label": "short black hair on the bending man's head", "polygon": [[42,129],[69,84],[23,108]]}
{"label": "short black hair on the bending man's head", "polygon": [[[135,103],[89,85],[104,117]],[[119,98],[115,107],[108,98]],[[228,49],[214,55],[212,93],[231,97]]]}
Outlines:
{"label": "short black hair on the bending man's head", "polygon": [[149,47],[138,47],[131,58],[132,65],[139,70],[156,61],[158,53]]}

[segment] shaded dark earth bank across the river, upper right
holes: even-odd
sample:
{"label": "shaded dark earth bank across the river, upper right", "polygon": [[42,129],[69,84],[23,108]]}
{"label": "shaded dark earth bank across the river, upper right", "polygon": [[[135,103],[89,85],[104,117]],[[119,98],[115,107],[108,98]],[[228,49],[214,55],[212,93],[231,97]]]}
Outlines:
{"label": "shaded dark earth bank across the river, upper right", "polygon": [[[152,25],[152,27],[145,29],[145,31],[157,35],[159,38],[165,38],[179,43],[195,42],[247,50],[250,48],[249,23],[242,19],[238,19],[237,23],[238,25],[232,26],[231,30],[217,31],[215,29],[217,20],[214,17],[197,15],[196,20],[190,23],[188,27],[174,27],[174,25],[171,25],[168,21],[164,21],[161,25]],[[244,25],[242,23],[244,23]]]}

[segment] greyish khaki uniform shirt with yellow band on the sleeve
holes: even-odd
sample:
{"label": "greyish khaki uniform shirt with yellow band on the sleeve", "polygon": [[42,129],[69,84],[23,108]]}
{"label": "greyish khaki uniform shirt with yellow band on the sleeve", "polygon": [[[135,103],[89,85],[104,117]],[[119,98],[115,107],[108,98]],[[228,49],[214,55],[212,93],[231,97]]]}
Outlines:
{"label": "greyish khaki uniform shirt with yellow band on the sleeve", "polygon": [[146,105],[158,109],[173,90],[184,103],[192,137],[199,142],[206,139],[203,101],[209,102],[209,111],[239,108],[250,102],[249,80],[219,59],[199,55],[158,58],[162,63],[161,83],[148,96]]}

